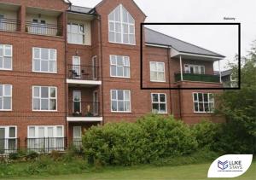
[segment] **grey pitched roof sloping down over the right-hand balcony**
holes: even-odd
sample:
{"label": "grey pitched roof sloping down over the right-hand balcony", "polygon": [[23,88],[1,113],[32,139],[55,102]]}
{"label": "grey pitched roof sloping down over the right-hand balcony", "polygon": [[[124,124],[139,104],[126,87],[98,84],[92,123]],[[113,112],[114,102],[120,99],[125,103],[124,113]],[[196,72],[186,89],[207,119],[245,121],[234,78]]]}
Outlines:
{"label": "grey pitched roof sloping down over the right-hand balcony", "polygon": [[177,38],[172,38],[170,36],[167,36],[166,34],[156,32],[148,28],[145,28],[145,42],[148,44],[171,46],[173,49],[176,49],[181,53],[189,53],[196,55],[212,55],[224,58],[224,55],[219,55],[218,53],[212,52],[207,49],[203,49],[194,44],[189,44]]}

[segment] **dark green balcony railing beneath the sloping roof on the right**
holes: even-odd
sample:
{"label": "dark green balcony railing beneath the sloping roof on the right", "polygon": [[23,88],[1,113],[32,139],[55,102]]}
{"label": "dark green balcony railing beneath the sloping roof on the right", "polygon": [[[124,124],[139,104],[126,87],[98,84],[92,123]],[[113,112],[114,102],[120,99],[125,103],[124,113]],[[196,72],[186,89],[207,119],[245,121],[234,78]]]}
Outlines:
{"label": "dark green balcony railing beneath the sloping roof on the right", "polygon": [[[209,74],[209,73],[188,73],[183,72],[183,80],[186,81],[201,81],[201,82],[211,82],[211,83],[219,83],[219,75],[218,74]],[[181,73],[175,73],[175,81],[181,81]]]}

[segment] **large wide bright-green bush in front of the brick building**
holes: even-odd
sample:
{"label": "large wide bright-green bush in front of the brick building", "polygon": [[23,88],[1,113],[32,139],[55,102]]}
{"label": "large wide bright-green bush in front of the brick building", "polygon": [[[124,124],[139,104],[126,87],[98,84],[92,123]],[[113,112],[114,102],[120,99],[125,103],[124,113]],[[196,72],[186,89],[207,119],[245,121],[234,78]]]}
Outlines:
{"label": "large wide bright-green bush in front of the brick building", "polygon": [[91,164],[135,165],[192,153],[197,142],[183,122],[148,115],[133,124],[92,127],[83,137],[83,146]]}

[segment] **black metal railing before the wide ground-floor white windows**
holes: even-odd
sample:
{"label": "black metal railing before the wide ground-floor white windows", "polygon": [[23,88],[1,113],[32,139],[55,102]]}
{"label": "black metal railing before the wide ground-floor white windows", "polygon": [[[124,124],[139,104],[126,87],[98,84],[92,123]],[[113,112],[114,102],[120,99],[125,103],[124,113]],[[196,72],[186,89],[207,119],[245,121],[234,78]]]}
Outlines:
{"label": "black metal railing before the wide ground-floor white windows", "polygon": [[44,154],[52,151],[65,151],[66,148],[66,137],[26,138],[27,151]]}

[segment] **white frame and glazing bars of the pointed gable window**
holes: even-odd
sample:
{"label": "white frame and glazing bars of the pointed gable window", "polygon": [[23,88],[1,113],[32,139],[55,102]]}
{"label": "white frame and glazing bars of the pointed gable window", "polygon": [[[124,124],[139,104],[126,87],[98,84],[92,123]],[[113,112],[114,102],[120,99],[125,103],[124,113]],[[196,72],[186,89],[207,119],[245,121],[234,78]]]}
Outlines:
{"label": "white frame and glazing bars of the pointed gable window", "polygon": [[[120,8],[120,21],[117,21],[117,20],[110,20],[110,15],[113,13],[113,14],[115,14],[115,11],[117,10],[117,9],[119,9]],[[109,43],[113,43],[113,44],[128,44],[128,45],[136,45],[136,36],[135,36],[135,19],[132,17],[132,15],[128,12],[128,10],[127,9],[125,9],[126,11],[127,11],[127,21],[128,22],[124,22],[124,19],[123,19],[123,11],[124,11],[124,9],[125,9],[125,7],[123,6],[123,4],[119,4],[119,6],[117,6],[115,9],[113,9],[113,11],[108,15],[108,42]],[[133,21],[134,21],[134,24],[133,23],[131,23],[131,22],[129,22],[129,15],[131,15],[131,18],[133,19]],[[114,15],[115,16],[115,15]],[[115,19],[115,18],[114,18]],[[110,29],[110,24],[111,23],[113,23],[113,31]],[[116,23],[117,24],[120,24],[120,32],[116,32]],[[128,33],[125,33],[125,31],[124,31],[124,25],[126,25],[126,26],[128,26]],[[131,33],[131,26],[133,26],[133,32],[134,33]],[[110,40],[110,35],[109,35],[109,33],[110,32],[113,32],[114,33],[114,41],[111,41]],[[115,36],[115,34],[116,33],[120,33],[121,34],[121,42],[118,42],[117,40],[116,40],[116,36]],[[124,34],[128,34],[128,41],[129,41],[129,43],[124,43]],[[134,38],[134,44],[131,44],[130,42],[131,42],[131,39],[130,39],[130,36],[133,36],[133,38]]]}

